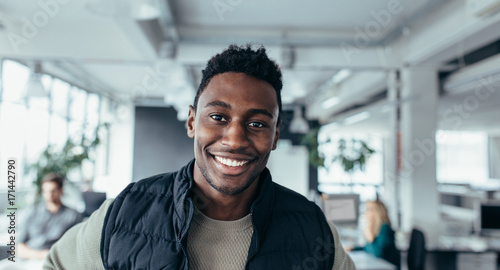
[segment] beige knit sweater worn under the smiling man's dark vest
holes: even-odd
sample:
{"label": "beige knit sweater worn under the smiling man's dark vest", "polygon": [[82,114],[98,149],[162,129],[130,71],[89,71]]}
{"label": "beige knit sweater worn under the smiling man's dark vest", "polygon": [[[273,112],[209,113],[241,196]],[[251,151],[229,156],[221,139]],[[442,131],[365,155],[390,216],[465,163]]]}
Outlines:
{"label": "beige knit sweater worn under the smiling man's dark vest", "polygon": [[[107,200],[85,222],[69,231],[52,247],[43,269],[101,270],[100,242],[104,217],[112,200]],[[335,227],[334,270],[355,269],[342,248]],[[253,227],[250,215],[235,221],[214,220],[196,209],[188,233],[190,269],[244,269]]]}

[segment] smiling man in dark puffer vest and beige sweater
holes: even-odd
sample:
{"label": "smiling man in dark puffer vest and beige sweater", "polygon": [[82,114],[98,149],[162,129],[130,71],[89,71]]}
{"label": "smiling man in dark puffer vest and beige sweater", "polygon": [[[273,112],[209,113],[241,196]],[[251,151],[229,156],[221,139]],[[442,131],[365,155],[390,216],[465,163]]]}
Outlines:
{"label": "smiling man in dark puffer vest and beige sweater", "polygon": [[195,159],[130,184],[68,232],[45,267],[354,269],[321,210],[266,169],[279,137],[281,77],[262,47],[231,45],[214,56],[189,108]]}

